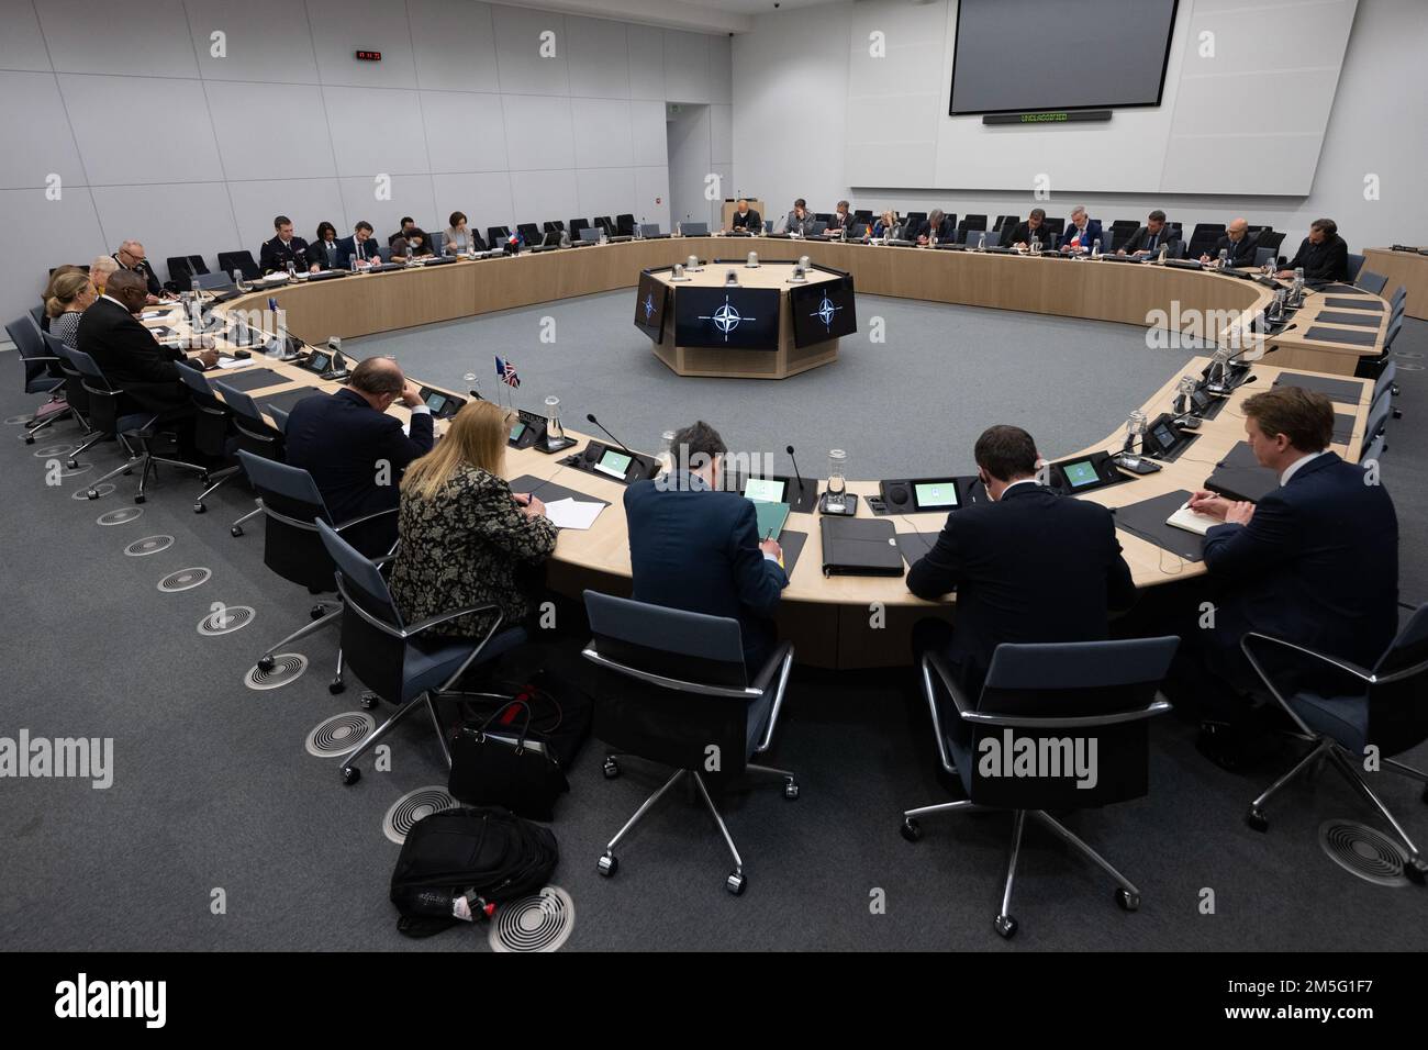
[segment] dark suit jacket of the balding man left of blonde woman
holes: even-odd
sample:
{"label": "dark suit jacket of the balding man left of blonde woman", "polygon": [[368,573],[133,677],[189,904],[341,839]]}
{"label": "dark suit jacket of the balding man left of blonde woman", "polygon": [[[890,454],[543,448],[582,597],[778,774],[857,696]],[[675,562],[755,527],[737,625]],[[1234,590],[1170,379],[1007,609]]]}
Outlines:
{"label": "dark suit jacket of the balding man left of blonde woman", "polygon": [[[407,437],[401,420],[353,390],[304,397],[287,417],[287,461],[313,476],[337,524],[396,507],[403,471],[433,443],[430,413],[411,417]],[[390,464],[388,484],[377,484],[383,460]]]}

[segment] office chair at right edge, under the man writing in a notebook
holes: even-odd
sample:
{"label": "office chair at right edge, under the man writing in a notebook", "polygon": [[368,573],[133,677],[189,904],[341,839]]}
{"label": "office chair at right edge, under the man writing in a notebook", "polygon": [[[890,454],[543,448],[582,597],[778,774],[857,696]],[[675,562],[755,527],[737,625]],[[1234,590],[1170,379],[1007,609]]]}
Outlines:
{"label": "office chair at right edge, under the man writing in a notebook", "polygon": [[[1408,849],[1404,874],[1422,886],[1428,863],[1359,770],[1365,751],[1374,747],[1384,770],[1428,784],[1428,773],[1392,759],[1428,740],[1428,689],[1424,687],[1428,676],[1428,604],[1419,606],[1408,619],[1372,669],[1258,631],[1245,634],[1240,647],[1265,689],[1311,744],[1288,773],[1250,803],[1245,823],[1255,831],[1268,830],[1265,803],[1301,773],[1328,759],[1394,829]],[[1428,803],[1428,787],[1422,799]]]}

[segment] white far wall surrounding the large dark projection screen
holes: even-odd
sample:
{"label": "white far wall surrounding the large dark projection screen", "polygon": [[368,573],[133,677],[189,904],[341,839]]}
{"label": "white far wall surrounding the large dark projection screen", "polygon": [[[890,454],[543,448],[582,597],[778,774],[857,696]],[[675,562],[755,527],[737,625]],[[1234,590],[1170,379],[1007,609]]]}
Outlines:
{"label": "white far wall surrounding the large dark projection screen", "polygon": [[[860,63],[853,54],[854,50],[867,54],[868,11],[881,10],[884,3],[887,0],[868,0],[810,11],[755,16],[754,31],[735,37],[734,170],[741,186],[764,194],[770,201],[805,196],[820,211],[830,210],[840,197],[848,197],[855,207],[927,210],[941,206],[958,214],[978,211],[1025,216],[1040,203],[1050,214],[1065,216],[1072,204],[1085,203],[1091,214],[1101,219],[1144,217],[1154,207],[1164,207],[1172,220],[1185,224],[1227,221],[1235,214],[1247,214],[1251,221],[1269,223],[1277,230],[1288,231],[1287,246],[1297,243],[1309,221],[1319,216],[1329,216],[1339,223],[1351,249],[1392,241],[1428,241],[1428,197],[1421,191],[1422,171],[1428,170],[1428,134],[1424,133],[1428,126],[1428,104],[1421,79],[1425,43],[1422,0],[1358,0],[1317,167],[1312,180],[1295,191],[1267,196],[1257,189],[1262,183],[1252,180],[1259,179],[1261,170],[1272,170],[1279,163],[1278,153],[1268,160],[1262,159],[1254,146],[1258,131],[1245,136],[1242,151],[1235,151],[1232,144],[1227,147],[1222,139],[1210,143],[1215,150],[1228,150],[1227,157],[1231,160],[1227,160],[1227,169],[1234,169],[1235,164],[1245,169],[1244,177],[1254,191],[1217,191],[1215,180],[1211,179],[1212,174],[1218,177],[1217,170],[1201,164],[1195,156],[1197,150],[1207,150],[1207,146],[1197,146],[1190,137],[1195,133],[1194,129],[1204,129],[1214,113],[1222,117],[1224,127],[1235,126],[1242,120],[1237,116],[1240,110],[1259,104],[1257,96],[1268,90],[1259,87],[1212,104],[1197,103],[1194,121],[1188,121],[1184,113],[1177,116],[1161,107],[1117,111],[1110,126],[1071,124],[1050,131],[1031,131],[1057,136],[1035,157],[1040,161],[1035,171],[1055,171],[1052,164],[1058,163],[1058,149],[1094,160],[1078,177],[1054,179],[1048,201],[1032,199],[1032,187],[1021,174],[1020,161],[1014,169],[1015,177],[1005,179],[1002,184],[980,181],[981,174],[988,170],[985,166],[952,163],[964,146],[951,147],[955,134],[948,129],[958,120],[980,119],[947,116],[951,34],[955,23],[955,19],[948,19],[948,0],[925,6],[888,6],[887,11],[895,21],[887,24],[898,31],[890,33],[888,59],[883,61],[894,60],[894,40],[901,40],[901,46],[911,50],[898,56],[892,73],[880,74],[877,80],[857,71]],[[1182,0],[1180,17],[1208,17],[1208,3],[1210,0]],[[1231,10],[1264,6],[1262,0],[1214,3]],[[1334,9],[1338,9],[1338,0],[1327,0],[1324,10]],[[850,49],[845,60],[837,60],[827,51],[800,51],[795,41],[807,39],[810,31],[834,39],[847,31]],[[935,106],[931,89],[920,76],[912,74],[918,63],[931,63],[925,54],[930,49],[918,44],[925,40],[938,43],[940,60],[947,63],[945,67],[938,67]],[[1184,57],[1181,43],[1188,46],[1188,41],[1177,37],[1177,53]],[[1241,63],[1242,46],[1234,33],[1228,39],[1221,33],[1218,47],[1221,57]],[[914,51],[918,61],[911,61]],[[1171,84],[1184,84],[1187,77],[1178,73],[1175,61],[1172,57],[1167,100]],[[901,67],[901,73],[897,67]],[[1227,63],[1227,74],[1228,67]],[[900,76],[904,77],[902,83],[897,79]],[[1314,83],[1322,83],[1322,74],[1317,73],[1315,77]],[[1299,81],[1292,71],[1281,71],[1274,91],[1287,99],[1298,99]],[[883,97],[877,97],[880,93]],[[840,99],[845,101],[840,104]],[[915,120],[902,117],[908,110],[918,114]],[[1124,126],[1130,114],[1135,113],[1160,114],[1155,119],[1164,124],[1160,139],[1150,136],[1138,147],[1151,147],[1148,157],[1152,163],[1144,169],[1144,174],[1164,180],[1157,184],[1164,184],[1165,189],[1097,190],[1095,186],[1104,184],[1104,173],[1118,177],[1115,171],[1125,167],[1128,156],[1124,141],[1111,149],[1104,139],[1105,127],[1114,127],[1118,121]],[[975,130],[984,129],[975,123]],[[1008,131],[1021,133],[1024,129]],[[798,136],[797,149],[791,149],[794,140],[790,136],[794,133]],[[998,160],[1000,156],[1007,156],[1002,141],[994,137],[991,144],[978,147],[990,154],[988,164],[1002,163]],[[925,167],[910,167],[914,159],[918,164],[932,164],[930,177],[921,177]],[[1080,166],[1078,161],[1071,167]],[[917,177],[908,177],[910,170]],[[962,179],[958,177],[960,171],[981,174]],[[1364,196],[1368,174],[1378,176],[1378,200],[1367,200]],[[861,181],[867,177],[873,181]],[[1191,189],[1195,191],[1190,191]],[[775,211],[773,204],[770,210]]]}

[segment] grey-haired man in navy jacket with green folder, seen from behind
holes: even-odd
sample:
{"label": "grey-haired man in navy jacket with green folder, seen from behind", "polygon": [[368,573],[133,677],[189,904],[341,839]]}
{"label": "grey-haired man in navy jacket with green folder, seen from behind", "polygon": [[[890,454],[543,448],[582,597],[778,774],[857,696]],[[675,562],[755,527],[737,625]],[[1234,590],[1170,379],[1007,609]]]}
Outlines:
{"label": "grey-haired man in navy jacket with green folder, seen from behind", "polygon": [[754,504],[724,491],[728,449],[708,423],[674,436],[674,469],[625,489],[634,600],[738,620],[744,666],[757,674],[774,650],[771,620],[788,574],[783,549],[760,541]]}

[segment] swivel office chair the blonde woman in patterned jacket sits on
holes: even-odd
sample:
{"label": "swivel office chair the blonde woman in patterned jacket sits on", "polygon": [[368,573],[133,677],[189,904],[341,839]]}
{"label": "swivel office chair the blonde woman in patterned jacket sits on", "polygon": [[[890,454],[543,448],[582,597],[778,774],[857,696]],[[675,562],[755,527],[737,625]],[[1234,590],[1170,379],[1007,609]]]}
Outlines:
{"label": "swivel office chair the blonde woman in patterned jacket sits on", "polygon": [[[356,784],[361,779],[357,759],[420,707],[431,716],[441,754],[450,769],[451,749],[436,701],[441,697],[466,696],[510,700],[508,696],[457,691],[454,687],[468,670],[488,666],[526,641],[526,629],[501,630],[501,611],[494,604],[454,609],[408,624],[397,609],[387,581],[381,579],[377,561],[358,553],[327,521],[317,519],[316,527],[328,559],[337,567],[337,593],[343,600],[341,651],[348,654],[351,670],[371,690],[370,696],[363,697],[363,706],[371,707],[378,699],[397,706],[396,714],[344,756],[343,783]],[[496,621],[481,639],[428,633],[438,624],[471,613],[496,614]]]}

